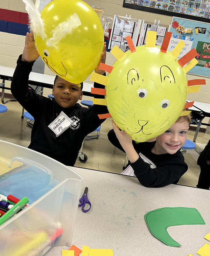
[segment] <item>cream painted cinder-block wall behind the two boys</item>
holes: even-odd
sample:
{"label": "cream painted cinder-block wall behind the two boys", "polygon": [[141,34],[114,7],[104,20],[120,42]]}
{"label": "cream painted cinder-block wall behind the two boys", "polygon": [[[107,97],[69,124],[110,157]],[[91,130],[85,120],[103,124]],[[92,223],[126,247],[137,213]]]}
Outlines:
{"label": "cream painted cinder-block wall behind the two boys", "polygon": [[[33,0],[35,2],[35,0]],[[169,25],[171,23],[172,17],[142,12],[130,8],[123,7],[123,0],[85,0],[87,4],[90,6],[99,6],[104,8],[104,15],[111,16],[113,18],[114,14],[125,16],[126,14],[131,15],[132,18],[136,19],[145,19],[145,21],[153,22],[155,19],[160,20],[161,24]],[[22,0],[0,0],[0,8],[18,11],[26,13],[25,4]],[[0,18],[1,19],[1,18]],[[18,56],[22,53],[25,42],[25,36],[10,34],[5,32],[0,32],[0,65],[5,67],[16,67],[16,60]],[[106,63],[112,65],[116,59],[110,54],[107,53]],[[45,74],[54,75],[54,73],[45,66],[44,70]],[[188,75],[188,79],[200,78],[195,75]],[[201,91],[195,94],[191,94],[188,96],[189,100],[195,100],[199,102],[210,102],[210,78],[206,78],[207,85],[201,86]],[[87,79],[87,82],[90,82]],[[10,86],[10,82],[7,81],[7,86]],[[10,91],[6,91],[9,93]],[[48,95],[51,93],[51,90],[45,89],[44,94]]]}

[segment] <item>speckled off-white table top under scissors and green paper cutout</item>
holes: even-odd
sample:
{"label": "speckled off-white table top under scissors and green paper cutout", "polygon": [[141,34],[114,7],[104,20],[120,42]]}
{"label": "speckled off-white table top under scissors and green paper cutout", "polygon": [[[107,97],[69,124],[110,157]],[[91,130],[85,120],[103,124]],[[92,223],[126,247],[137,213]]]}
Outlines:
{"label": "speckled off-white table top under scissors and green paper cutout", "polygon": [[[210,191],[180,185],[146,188],[137,178],[71,167],[87,186],[92,208],[83,213],[80,208],[73,232],[72,244],[96,249],[113,249],[114,256],[188,256],[207,240],[210,232]],[[192,207],[206,225],[183,225],[168,228],[169,235],[181,247],[169,247],[156,239],[147,228],[144,215],[162,207]],[[67,246],[54,247],[47,256],[61,255]]]}

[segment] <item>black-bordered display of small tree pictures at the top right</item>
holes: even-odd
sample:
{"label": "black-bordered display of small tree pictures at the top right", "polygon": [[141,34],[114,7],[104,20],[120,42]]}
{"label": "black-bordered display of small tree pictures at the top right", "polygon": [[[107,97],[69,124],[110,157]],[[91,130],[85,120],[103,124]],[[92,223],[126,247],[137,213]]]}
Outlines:
{"label": "black-bordered display of small tree pictures at the top right", "polygon": [[210,22],[210,0],[124,0],[123,7]]}

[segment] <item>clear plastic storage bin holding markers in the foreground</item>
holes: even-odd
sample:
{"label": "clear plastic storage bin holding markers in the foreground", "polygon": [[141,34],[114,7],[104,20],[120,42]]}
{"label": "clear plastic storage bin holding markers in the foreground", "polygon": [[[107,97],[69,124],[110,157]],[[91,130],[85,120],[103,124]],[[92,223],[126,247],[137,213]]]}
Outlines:
{"label": "clear plastic storage bin holding markers in the foreground", "polygon": [[0,194],[26,196],[30,204],[0,226],[0,255],[41,256],[70,246],[81,183],[60,162],[0,140]]}

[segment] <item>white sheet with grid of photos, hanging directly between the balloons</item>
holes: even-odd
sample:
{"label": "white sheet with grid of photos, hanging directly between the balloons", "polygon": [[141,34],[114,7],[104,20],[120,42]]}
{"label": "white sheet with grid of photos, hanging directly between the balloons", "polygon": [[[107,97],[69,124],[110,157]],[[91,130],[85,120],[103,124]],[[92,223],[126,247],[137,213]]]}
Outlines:
{"label": "white sheet with grid of photos, hanging directly between the balloons", "polygon": [[125,39],[127,36],[131,36],[133,43],[136,46],[140,26],[141,20],[127,19],[127,17],[124,16],[114,15],[108,49],[117,46],[124,52],[128,51],[129,46]]}

